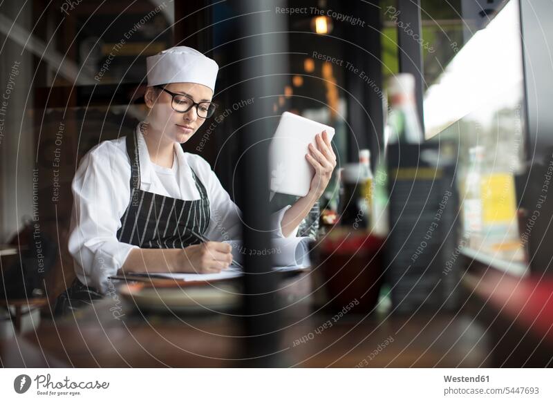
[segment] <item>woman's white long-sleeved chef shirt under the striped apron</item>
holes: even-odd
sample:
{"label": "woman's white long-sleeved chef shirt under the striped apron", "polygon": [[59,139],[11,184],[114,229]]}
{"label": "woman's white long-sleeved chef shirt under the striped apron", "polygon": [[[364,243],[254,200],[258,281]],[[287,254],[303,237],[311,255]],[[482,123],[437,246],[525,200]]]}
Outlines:
{"label": "woman's white long-sleeved chef shirt under the striped apron", "polygon": [[[136,128],[140,158],[140,189],[171,198],[198,200],[190,169],[205,186],[209,198],[210,220],[204,236],[209,240],[234,240],[241,236],[241,211],[218,180],[209,163],[200,155],[182,151],[175,143],[173,168],[154,166],[146,142]],[[102,293],[113,289],[108,279],[123,266],[132,249],[138,246],[120,242],[116,237],[121,217],[131,198],[131,162],[125,137],[104,141],[82,158],[73,178],[73,214],[68,249],[75,261],[77,278]],[[286,210],[271,216],[272,236],[284,237],[281,221]],[[297,234],[297,229],[289,237]],[[110,290],[111,291],[111,290]]]}

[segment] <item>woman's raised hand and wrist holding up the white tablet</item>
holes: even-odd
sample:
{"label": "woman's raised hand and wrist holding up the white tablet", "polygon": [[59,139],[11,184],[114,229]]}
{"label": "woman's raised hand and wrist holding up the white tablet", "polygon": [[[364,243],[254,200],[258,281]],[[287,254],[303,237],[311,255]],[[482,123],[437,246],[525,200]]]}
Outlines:
{"label": "woman's raised hand and wrist holding up the white tablet", "polygon": [[317,148],[313,144],[309,144],[309,153],[306,154],[306,159],[315,169],[309,193],[306,195],[310,200],[317,200],[323,195],[332,177],[332,171],[336,167],[336,155],[332,151],[332,145],[330,145],[330,139],[326,131],[323,131],[322,135],[315,135],[315,142]]}

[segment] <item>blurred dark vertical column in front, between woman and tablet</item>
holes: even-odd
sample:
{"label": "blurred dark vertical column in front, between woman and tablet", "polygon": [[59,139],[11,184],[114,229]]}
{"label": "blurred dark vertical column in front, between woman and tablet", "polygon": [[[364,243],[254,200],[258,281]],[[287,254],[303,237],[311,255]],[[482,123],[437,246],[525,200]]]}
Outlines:
{"label": "blurred dark vertical column in front, between woman and tablet", "polygon": [[[274,97],[283,93],[282,76],[285,73],[287,43],[283,17],[275,14],[275,6],[282,2],[272,0],[243,0],[239,4],[241,17],[237,46],[239,79],[242,99],[253,98],[253,103],[241,114],[239,137],[238,181],[242,193],[243,240],[245,257],[245,365],[274,367],[279,365],[279,314],[275,291],[279,275],[272,273],[272,258],[263,255],[271,247],[268,182],[268,146],[272,137]],[[268,10],[268,11],[265,11]],[[270,55],[273,54],[273,55]],[[265,77],[263,77],[265,76]],[[238,100],[238,102],[241,102]],[[250,253],[254,251],[254,253]],[[258,255],[261,254],[261,255]]]}

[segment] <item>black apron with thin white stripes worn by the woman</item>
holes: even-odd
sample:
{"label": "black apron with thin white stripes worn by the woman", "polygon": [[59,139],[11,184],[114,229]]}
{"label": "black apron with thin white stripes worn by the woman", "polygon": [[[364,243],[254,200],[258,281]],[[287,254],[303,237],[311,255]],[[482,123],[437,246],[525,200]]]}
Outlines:
{"label": "black apron with thin white stripes worn by the woman", "polygon": [[[118,240],[142,249],[184,249],[199,244],[201,240],[195,233],[203,236],[207,231],[210,214],[207,191],[196,172],[190,168],[200,193],[199,200],[178,200],[143,191],[140,190],[136,133],[126,136],[126,151],[131,160],[131,199],[116,233]],[[55,314],[66,314],[103,296],[97,289],[75,278],[73,284],[57,298]]]}

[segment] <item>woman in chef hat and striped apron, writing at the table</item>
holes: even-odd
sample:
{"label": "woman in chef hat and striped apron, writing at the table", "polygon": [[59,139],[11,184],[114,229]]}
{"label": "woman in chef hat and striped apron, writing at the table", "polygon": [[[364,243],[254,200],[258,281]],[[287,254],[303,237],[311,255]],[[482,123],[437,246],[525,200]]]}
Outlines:
{"label": "woman in chef hat and striped apron, writing at the table", "polygon": [[[106,294],[118,271],[215,273],[232,261],[221,240],[239,236],[240,211],[209,164],[180,146],[215,111],[218,66],[177,46],[148,57],[147,68],[147,119],[134,135],[95,146],[75,174],[68,246],[77,280],[58,311]],[[336,165],[326,133],[306,158],[315,169],[310,191],[273,214],[274,236],[295,236],[326,188]]]}

